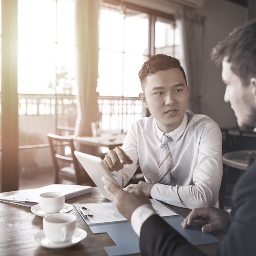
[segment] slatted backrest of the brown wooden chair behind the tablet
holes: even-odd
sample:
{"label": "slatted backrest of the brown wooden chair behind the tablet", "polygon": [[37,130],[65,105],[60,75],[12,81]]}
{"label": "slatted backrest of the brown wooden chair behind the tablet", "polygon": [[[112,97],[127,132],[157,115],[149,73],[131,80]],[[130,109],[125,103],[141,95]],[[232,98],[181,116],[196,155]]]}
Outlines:
{"label": "slatted backrest of the brown wooden chair behind the tablet", "polygon": [[[59,171],[60,166],[59,162],[69,163],[73,164],[75,174],[73,179],[76,180],[76,183],[79,183],[79,180],[81,178],[80,168],[78,160],[76,159],[76,156],[74,154],[74,143],[72,136],[60,136],[56,134],[47,134],[50,150],[52,154],[52,160],[54,164],[55,169],[55,183],[59,183]],[[69,146],[70,147],[70,154],[65,155],[64,147]]]}

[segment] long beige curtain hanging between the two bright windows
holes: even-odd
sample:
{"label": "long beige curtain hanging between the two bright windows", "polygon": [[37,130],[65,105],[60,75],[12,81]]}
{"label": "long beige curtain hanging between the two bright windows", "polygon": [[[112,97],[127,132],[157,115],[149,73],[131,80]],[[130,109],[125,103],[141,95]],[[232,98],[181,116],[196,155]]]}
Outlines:
{"label": "long beige curtain hanging between the two bright windows", "polygon": [[101,0],[75,0],[77,46],[76,136],[90,136],[91,122],[99,120],[97,79],[99,62],[99,9]]}

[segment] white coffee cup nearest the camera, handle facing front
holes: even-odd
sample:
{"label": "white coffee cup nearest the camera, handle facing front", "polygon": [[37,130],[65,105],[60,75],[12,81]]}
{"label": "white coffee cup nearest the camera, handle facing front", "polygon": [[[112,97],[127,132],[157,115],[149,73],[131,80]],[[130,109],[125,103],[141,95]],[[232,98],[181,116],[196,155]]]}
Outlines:
{"label": "white coffee cup nearest the camera, handle facing front", "polygon": [[55,243],[64,242],[73,236],[76,229],[76,215],[55,213],[43,218],[44,234]]}

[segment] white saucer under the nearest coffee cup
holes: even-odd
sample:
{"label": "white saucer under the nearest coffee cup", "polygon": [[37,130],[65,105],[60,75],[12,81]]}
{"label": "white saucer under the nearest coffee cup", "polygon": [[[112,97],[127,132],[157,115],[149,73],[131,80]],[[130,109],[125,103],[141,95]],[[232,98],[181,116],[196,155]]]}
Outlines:
{"label": "white saucer under the nearest coffee cup", "polygon": [[52,242],[49,238],[47,238],[44,234],[44,230],[40,230],[39,232],[35,233],[33,239],[43,247],[47,248],[66,248],[73,246],[87,236],[87,232],[81,228],[76,228],[74,235],[71,237],[70,240],[62,242],[62,243],[55,243]]}

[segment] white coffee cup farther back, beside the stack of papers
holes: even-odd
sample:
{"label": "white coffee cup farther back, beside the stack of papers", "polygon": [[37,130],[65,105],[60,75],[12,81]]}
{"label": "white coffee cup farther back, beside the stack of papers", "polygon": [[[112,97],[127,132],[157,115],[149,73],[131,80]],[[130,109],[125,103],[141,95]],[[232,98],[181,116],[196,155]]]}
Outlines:
{"label": "white coffee cup farther back, beside the stack of papers", "polygon": [[57,213],[65,204],[65,195],[62,192],[45,192],[39,195],[40,208],[46,213]]}

